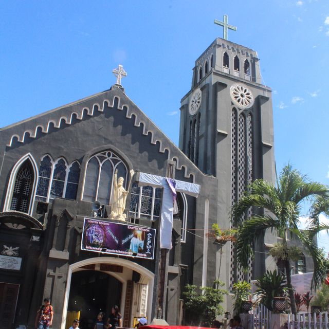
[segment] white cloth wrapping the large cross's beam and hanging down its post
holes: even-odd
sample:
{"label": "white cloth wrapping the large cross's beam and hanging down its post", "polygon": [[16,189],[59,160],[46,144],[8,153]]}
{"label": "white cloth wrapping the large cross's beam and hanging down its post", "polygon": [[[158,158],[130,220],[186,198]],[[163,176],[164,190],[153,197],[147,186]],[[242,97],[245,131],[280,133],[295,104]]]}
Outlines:
{"label": "white cloth wrapping the large cross's beam and hanging down its post", "polygon": [[[198,184],[176,180],[176,192],[186,193],[197,197],[200,193]],[[171,234],[173,230],[173,193],[170,190],[166,177],[156,176],[146,173],[139,173],[138,186],[153,186],[163,188],[161,222],[160,222],[160,248],[171,249]]]}

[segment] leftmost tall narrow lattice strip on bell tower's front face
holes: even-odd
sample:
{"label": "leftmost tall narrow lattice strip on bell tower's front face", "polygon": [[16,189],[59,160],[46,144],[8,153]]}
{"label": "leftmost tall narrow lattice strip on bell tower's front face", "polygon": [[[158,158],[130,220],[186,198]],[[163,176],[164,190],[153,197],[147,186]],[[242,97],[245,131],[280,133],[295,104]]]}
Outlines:
{"label": "leftmost tall narrow lattice strip on bell tower's front face", "polygon": [[[232,127],[231,127],[231,205],[236,201],[236,111],[232,110]],[[230,249],[230,291],[233,289],[234,284],[234,269],[235,269],[235,257],[234,257],[234,244],[231,243]]]}

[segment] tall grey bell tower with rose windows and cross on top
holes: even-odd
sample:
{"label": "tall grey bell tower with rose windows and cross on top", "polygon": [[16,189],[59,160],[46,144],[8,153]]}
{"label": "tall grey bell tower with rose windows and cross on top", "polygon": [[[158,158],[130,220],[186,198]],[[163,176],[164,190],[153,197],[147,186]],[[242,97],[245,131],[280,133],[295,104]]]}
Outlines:
{"label": "tall grey bell tower with rose windows and cross on top", "polygon": [[[220,25],[227,24],[227,16]],[[230,227],[229,212],[257,178],[275,180],[271,89],[261,83],[256,51],[216,38],[195,61],[191,90],[181,99],[179,148],[205,174],[218,178],[217,223]],[[249,210],[252,212],[252,209]],[[234,245],[223,247],[221,280],[231,289],[265,271],[265,236],[247,275],[236,267]],[[230,266],[228,266],[230,264]],[[218,267],[218,265],[216,265]],[[216,272],[217,269],[216,269]]]}

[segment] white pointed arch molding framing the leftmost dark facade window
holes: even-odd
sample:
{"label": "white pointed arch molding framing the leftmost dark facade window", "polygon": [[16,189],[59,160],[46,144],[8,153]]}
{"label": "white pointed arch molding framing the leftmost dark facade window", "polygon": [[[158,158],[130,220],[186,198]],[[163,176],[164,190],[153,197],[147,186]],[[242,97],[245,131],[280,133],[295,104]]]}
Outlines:
{"label": "white pointed arch molding framing the leftmost dark facade window", "polygon": [[27,153],[24,156],[22,156],[15,163],[15,166],[11,170],[10,177],[9,177],[9,184],[8,184],[8,188],[7,188],[6,198],[5,198],[5,205],[4,205],[4,209],[3,209],[4,212],[10,211],[10,203],[11,203],[11,197],[12,197],[13,187],[15,184],[16,175],[17,175],[17,172],[19,171],[19,169],[21,168],[22,164],[26,160],[29,160],[31,162],[31,166],[33,168],[33,175],[34,175],[32,191],[31,191],[31,202],[30,202],[29,209],[28,209],[28,214],[29,215],[32,214],[32,209],[33,209],[33,205],[34,205],[34,194],[35,194],[35,189],[36,189],[36,181],[38,180],[39,170],[38,170],[38,166],[36,165],[36,162],[31,153]]}

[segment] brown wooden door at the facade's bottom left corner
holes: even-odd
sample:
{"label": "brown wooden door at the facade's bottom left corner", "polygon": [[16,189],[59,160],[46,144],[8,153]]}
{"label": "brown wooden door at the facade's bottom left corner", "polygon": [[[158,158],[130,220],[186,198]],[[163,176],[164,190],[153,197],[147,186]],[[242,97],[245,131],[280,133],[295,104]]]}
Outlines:
{"label": "brown wooden door at the facade's bottom left corner", "polygon": [[11,328],[15,318],[19,284],[0,282],[0,329]]}

